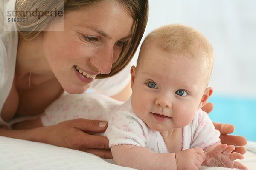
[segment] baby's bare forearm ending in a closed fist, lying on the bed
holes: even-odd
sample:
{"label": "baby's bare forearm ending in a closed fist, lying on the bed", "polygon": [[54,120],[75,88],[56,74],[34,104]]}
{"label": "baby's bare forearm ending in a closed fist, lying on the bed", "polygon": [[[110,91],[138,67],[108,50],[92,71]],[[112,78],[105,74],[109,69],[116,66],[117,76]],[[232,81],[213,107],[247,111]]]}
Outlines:
{"label": "baby's bare forearm ending in a closed fist, lying on the bed", "polygon": [[115,164],[140,170],[200,169],[204,160],[201,148],[175,153],[155,153],[145,147],[116,145],[111,147]]}

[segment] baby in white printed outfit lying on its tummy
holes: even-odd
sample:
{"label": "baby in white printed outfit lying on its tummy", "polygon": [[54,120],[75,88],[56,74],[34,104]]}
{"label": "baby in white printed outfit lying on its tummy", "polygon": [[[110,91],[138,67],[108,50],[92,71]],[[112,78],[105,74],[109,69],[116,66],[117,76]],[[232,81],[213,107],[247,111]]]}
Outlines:
{"label": "baby in white printed outfit lying on its tummy", "polygon": [[109,122],[115,164],[143,170],[200,169],[204,166],[247,169],[221,144],[207,113],[201,110],[212,94],[207,87],[214,51],[194,28],[166,25],[144,40],[137,68],[131,68],[132,95],[118,102],[100,94],[66,95],[52,103],[44,126],[68,119]]}

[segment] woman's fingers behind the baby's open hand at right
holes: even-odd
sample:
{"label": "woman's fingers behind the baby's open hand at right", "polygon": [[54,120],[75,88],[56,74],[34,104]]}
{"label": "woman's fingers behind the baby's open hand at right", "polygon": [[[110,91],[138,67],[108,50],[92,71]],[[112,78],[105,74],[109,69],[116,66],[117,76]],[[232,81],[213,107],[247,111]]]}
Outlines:
{"label": "woman's fingers behind the baby's open hand at right", "polygon": [[[213,110],[213,104],[207,103],[202,108],[203,111],[209,113]],[[236,149],[233,152],[238,152],[241,154],[244,154],[246,152],[246,149],[242,146],[244,146],[247,143],[247,140],[243,136],[234,136],[229,135],[230,133],[233,133],[235,130],[234,125],[230,124],[223,124],[223,123],[216,123],[213,122],[213,125],[215,126],[215,129],[219,130],[221,132],[221,143],[225,143],[228,145],[235,145]]]}

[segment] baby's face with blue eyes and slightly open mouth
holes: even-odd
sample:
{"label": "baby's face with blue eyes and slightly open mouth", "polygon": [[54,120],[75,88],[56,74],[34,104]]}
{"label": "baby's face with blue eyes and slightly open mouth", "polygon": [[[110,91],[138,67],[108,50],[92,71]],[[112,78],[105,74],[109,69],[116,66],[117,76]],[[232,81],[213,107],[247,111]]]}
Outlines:
{"label": "baby's face with blue eyes and slightly open mouth", "polygon": [[135,113],[160,132],[188,125],[206,89],[201,62],[158,48],[146,48],[142,57],[139,68],[131,71]]}

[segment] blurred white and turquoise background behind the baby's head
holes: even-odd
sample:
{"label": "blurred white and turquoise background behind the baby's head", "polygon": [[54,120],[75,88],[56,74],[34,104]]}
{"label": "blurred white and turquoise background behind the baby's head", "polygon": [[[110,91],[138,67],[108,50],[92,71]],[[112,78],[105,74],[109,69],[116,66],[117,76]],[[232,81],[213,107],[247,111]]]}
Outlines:
{"label": "blurred white and turquoise background behind the baby's head", "polygon": [[233,134],[256,141],[256,1],[149,0],[149,6],[145,35],[180,23],[198,29],[212,43],[215,65],[209,85],[214,93],[209,102],[215,107],[209,116],[235,125]]}

